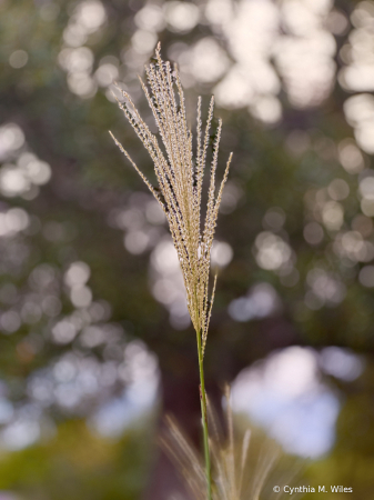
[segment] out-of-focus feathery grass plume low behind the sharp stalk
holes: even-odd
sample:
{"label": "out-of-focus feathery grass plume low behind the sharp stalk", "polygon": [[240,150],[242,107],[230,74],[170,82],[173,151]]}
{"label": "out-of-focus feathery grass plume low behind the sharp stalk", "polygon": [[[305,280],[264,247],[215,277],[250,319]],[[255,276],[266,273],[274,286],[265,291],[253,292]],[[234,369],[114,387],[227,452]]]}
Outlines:
{"label": "out-of-focus feathery grass plume low behind the sharp stalk", "polygon": [[[281,448],[272,440],[260,447],[257,457],[251,451],[251,431],[246,429],[242,441],[235,437],[230,390],[225,391],[225,430],[221,429],[212,406],[208,403],[210,443],[212,450],[212,499],[213,500],[280,500],[284,491],[273,491],[277,484],[292,484],[300,473],[293,463],[286,473],[276,474],[282,459]],[[206,500],[205,476],[202,459],[171,417],[166,418],[166,430],[160,438],[162,448],[176,463],[194,500]],[[254,446],[253,446],[254,448]],[[275,479],[276,478],[276,479]],[[296,492],[287,498],[301,498]]]}

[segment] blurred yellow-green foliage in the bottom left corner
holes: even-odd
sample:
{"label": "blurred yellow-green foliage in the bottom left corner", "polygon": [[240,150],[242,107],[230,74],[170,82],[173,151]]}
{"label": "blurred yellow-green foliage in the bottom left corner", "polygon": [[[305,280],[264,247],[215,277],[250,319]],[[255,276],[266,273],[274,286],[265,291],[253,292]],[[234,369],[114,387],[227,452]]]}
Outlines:
{"label": "blurred yellow-green foliage in the bottom left corner", "polygon": [[84,421],[65,421],[47,442],[2,453],[0,488],[30,500],[137,499],[149,463],[144,423],[114,441],[93,434]]}

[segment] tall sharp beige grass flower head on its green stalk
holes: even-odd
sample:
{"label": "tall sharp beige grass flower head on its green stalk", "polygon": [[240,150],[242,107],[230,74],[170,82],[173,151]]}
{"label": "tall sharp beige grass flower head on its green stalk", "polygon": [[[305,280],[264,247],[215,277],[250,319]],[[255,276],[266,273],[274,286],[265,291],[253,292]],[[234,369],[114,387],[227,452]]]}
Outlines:
{"label": "tall sharp beige grass flower head on its green stalk", "polygon": [[[200,400],[204,440],[205,477],[208,500],[212,500],[211,456],[208,433],[208,406],[205,394],[203,358],[208,338],[210,318],[215,291],[216,277],[210,293],[210,261],[222,191],[228,179],[232,153],[226,162],[223,179],[216,190],[216,168],[222,120],[216,132],[211,136],[214,98],[211,98],[205,130],[202,127],[201,98],[198,100],[196,139],[188,127],[184,93],[176,66],[161,59],[160,43],[154,62],[145,67],[148,87],[139,77],[148,103],[152,110],[159,134],[160,146],[142,120],[131,97],[122,92],[123,102],[119,107],[149,152],[158,179],[158,187],[152,186],[127,150],[111,133],[114,142],[138,171],[166,216],[174,247],[181,266],[186,302],[191,321],[196,332]],[[210,180],[205,218],[202,223],[202,192],[204,170],[208,163],[208,150],[212,142],[213,151],[210,162]],[[195,148],[195,153],[194,153]]]}

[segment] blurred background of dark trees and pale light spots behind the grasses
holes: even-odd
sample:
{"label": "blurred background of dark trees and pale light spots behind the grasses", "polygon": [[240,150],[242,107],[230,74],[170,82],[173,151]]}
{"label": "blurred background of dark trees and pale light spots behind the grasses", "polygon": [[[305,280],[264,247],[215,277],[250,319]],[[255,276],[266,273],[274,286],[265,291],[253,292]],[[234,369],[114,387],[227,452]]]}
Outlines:
{"label": "blurred background of dark trees and pale light spots behind the grasses", "polygon": [[373,498],[373,1],[0,1],[1,500],[185,498],[156,433],[170,412],[199,443],[195,336],[108,133],[152,178],[112,82],[151,124],[158,40],[193,128],[215,94],[221,172],[234,151],[208,391],[230,382],[307,484]]}

